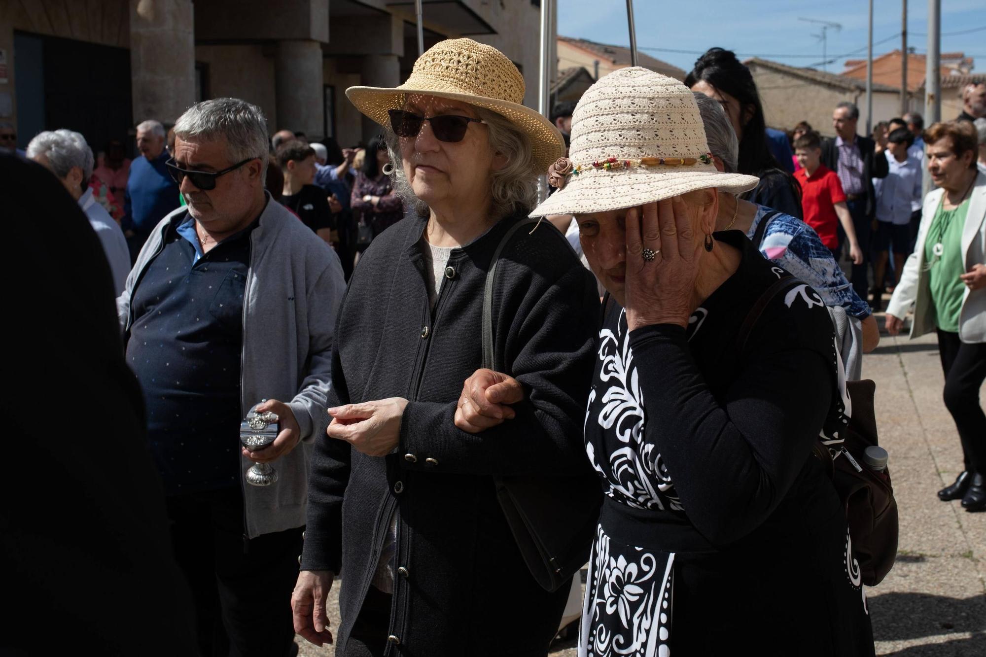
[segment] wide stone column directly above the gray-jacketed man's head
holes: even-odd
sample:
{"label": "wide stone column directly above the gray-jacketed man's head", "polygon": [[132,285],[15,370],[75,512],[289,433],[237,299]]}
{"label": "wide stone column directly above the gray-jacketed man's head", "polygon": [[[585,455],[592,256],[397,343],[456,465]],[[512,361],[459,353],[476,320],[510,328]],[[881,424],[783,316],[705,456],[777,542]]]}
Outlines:
{"label": "wide stone column directly above the gray-jacketed man's head", "polygon": [[195,103],[191,0],[129,0],[133,120],[174,123]]}

